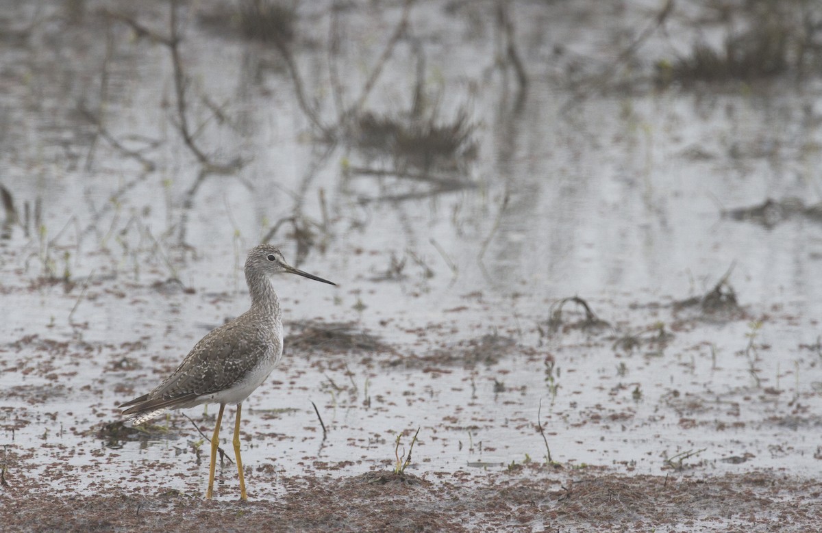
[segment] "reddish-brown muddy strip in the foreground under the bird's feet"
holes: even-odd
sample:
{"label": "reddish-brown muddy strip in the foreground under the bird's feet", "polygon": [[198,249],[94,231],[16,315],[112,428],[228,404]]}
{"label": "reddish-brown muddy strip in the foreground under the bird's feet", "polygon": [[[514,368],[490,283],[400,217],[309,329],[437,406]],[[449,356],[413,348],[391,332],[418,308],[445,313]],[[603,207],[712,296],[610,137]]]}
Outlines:
{"label": "reddish-brown muddy strip in the foreground under the bird's feet", "polygon": [[3,494],[0,517],[7,531],[812,531],[820,523],[819,483],[774,473],[674,480],[524,470],[482,480],[295,477],[279,480],[281,498],[248,503],[173,490]]}

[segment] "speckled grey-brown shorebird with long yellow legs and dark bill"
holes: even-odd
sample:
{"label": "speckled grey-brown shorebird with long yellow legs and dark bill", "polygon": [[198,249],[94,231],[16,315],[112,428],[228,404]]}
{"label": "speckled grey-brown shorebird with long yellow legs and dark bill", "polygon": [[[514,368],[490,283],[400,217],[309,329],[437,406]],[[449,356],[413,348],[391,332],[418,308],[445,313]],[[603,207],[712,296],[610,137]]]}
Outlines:
{"label": "speckled grey-brown shorebird with long yellow legs and dark bill", "polygon": [[240,476],[240,498],[247,499],[246,483],[240,459],[240,411],[242,402],[266,380],[283,356],[283,322],[279,298],[268,277],[275,273],[295,273],[318,282],[330,281],[293,268],[274,246],[252,248],[246,258],[246,283],[252,295],[252,307],[205,335],[192,348],[168,379],[148,394],[123,403],[124,415],[131,415],[132,425],[163,414],[169,409],[184,409],[203,403],[219,403],[214,437],[211,439],[211,463],[208,490],[214,490],[214,467],[217,457],[219,425],[226,404],[237,405],[234,421],[234,455]]}

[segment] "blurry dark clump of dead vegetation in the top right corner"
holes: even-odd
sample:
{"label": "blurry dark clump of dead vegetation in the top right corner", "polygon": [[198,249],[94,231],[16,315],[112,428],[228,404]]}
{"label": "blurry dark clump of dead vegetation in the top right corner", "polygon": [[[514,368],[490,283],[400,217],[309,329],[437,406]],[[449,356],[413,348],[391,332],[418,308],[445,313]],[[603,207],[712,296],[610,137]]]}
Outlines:
{"label": "blurry dark clump of dead vegetation in the top right corner", "polygon": [[[683,9],[681,2],[669,0],[649,16],[647,24],[635,30],[628,44],[617,42],[612,61],[595,71],[571,63],[567,78],[574,95],[562,108],[567,113],[592,94],[605,91],[631,93],[671,86],[693,88],[696,84],[742,82],[749,86],[761,80],[792,77],[806,80],[822,71],[822,8],[807,0],[745,0],[699,2]],[[672,25],[690,27],[694,44],[690,52],[663,53],[653,63],[649,76],[637,76],[642,64],[640,50],[650,49],[657,39],[660,49],[668,42],[676,45],[669,31]],[[719,46],[705,34],[722,31]],[[661,41],[661,42],[660,42]],[[671,47],[673,48],[673,46]],[[649,83],[650,82],[650,83]]]}

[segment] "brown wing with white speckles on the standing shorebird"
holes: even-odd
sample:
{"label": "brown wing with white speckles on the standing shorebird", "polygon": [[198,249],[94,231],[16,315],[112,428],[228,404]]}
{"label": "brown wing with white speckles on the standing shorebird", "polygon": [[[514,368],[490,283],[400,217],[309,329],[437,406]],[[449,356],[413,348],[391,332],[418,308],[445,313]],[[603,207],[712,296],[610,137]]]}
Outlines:
{"label": "brown wing with white speckles on the standing shorebird", "polygon": [[132,406],[123,414],[196,405],[197,397],[237,384],[266,356],[268,349],[265,335],[253,326],[236,322],[220,326],[197,342],[177,370],[157,388],[123,404]]}

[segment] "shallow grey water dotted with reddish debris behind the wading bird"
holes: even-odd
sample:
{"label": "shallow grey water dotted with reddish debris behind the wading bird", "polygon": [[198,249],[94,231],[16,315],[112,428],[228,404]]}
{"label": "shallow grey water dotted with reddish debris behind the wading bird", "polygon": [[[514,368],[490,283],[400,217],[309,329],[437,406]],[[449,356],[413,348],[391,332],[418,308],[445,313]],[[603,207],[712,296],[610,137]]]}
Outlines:
{"label": "shallow grey water dotted with reddish debris behind the wading bird", "polygon": [[[766,198],[816,201],[819,83],[774,82],[753,94],[594,89],[562,113],[574,98],[566,71],[607,62],[609,39],[621,42],[620,31],[653,16],[641,3],[626,3],[617,19],[587,3],[516,5],[530,75],[520,108],[513,72],[494,66],[491,7],[413,6],[427,98],[439,102],[442,122],[465,108],[476,125],[476,156],[460,157],[455,172],[432,172],[467,185],[442,193],[430,181],[357,172],[396,161],[345,136],[316,140],[270,44],[215,34],[198,22],[216,10],[209,2],[200,13],[181,9],[187,117],[202,125],[196,142],[217,163],[247,161],[193,194],[201,166],[177,130],[167,49],[135,39],[94,2],[79,19],[18,4],[4,33],[37,24],[0,55],[2,185],[21,219],[25,204],[31,213],[0,241],[9,476],[82,493],[112,484],[201,491],[208,445],[198,457],[201,438],[182,416],[160,420],[168,434],[115,447],[98,430],[247,308],[245,251],[289,217],[312,233],[300,268],[339,287],[276,278],[287,323],[353,323],[390,349],[287,353],[243,411],[253,496],[276,493],[276,476],[392,467],[396,435],[402,452],[417,428],[409,471],[418,475],[544,462],[538,412],[552,460],[568,466],[806,475],[820,457],[822,423],[820,224],[795,217],[768,227],[722,212]],[[136,20],[167,33],[168,11],[154,9]],[[330,7],[301,10],[296,64],[331,124]],[[589,31],[573,30],[583,13]],[[340,12],[345,102],[400,16],[398,6]],[[650,44],[684,47],[691,37],[675,17],[667,38]],[[367,108],[411,107],[412,43],[399,40]],[[648,48],[640,60],[653,60]],[[145,149],[155,169],[95,135],[81,106],[122,145]],[[293,224],[270,241],[296,257]],[[740,315],[673,308],[728,269]],[[547,333],[552,305],[575,295],[612,327]],[[565,309],[566,325],[582,316]],[[669,341],[617,347],[660,323]],[[187,414],[209,434],[215,411]],[[218,485],[232,494],[236,473],[222,472]]]}

